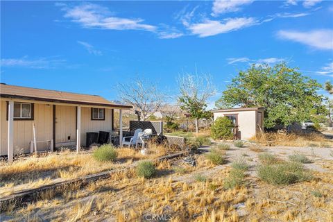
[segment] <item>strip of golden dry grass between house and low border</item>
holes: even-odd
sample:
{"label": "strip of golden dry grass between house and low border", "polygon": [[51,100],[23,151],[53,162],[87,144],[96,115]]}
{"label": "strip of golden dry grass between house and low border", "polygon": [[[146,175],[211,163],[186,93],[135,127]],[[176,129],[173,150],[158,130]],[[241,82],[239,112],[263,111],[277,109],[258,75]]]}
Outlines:
{"label": "strip of golden dry grass between house and low border", "polygon": [[49,155],[32,155],[12,164],[0,162],[0,195],[8,196],[15,191],[49,185],[54,180],[68,180],[92,173],[126,167],[138,160],[155,159],[167,153],[164,146],[151,144],[149,154],[142,155],[133,148],[117,148],[114,162],[94,160],[92,153],[76,154],[70,151]]}

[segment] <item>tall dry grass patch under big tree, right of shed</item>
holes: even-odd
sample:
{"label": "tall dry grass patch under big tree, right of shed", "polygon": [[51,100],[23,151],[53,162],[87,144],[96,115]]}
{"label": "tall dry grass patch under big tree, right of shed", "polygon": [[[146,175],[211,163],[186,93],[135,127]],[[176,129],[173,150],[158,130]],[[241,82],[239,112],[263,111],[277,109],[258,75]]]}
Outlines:
{"label": "tall dry grass patch under big tree, right of shed", "polygon": [[296,135],[294,133],[264,133],[257,137],[252,137],[250,140],[264,144],[264,146],[333,146],[332,140],[325,139],[324,135],[318,133],[306,135]]}

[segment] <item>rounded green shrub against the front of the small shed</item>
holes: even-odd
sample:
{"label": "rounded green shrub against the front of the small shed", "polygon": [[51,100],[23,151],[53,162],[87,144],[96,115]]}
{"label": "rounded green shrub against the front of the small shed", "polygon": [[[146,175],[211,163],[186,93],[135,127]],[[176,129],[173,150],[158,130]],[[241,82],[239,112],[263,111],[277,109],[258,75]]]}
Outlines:
{"label": "rounded green shrub against the front of the small shed", "polygon": [[211,128],[213,139],[232,139],[234,123],[228,117],[219,117]]}

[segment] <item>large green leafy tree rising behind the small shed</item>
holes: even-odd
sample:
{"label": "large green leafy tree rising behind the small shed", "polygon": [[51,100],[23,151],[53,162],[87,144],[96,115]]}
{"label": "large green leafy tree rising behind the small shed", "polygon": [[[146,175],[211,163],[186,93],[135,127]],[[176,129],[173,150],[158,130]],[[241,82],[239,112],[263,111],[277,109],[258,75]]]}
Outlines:
{"label": "large green leafy tree rising behind the small shed", "polygon": [[317,93],[320,88],[316,80],[302,76],[297,68],[287,67],[285,63],[274,67],[253,65],[232,79],[216,106],[262,106],[266,108],[266,128],[276,124],[288,126],[326,112],[323,96]]}

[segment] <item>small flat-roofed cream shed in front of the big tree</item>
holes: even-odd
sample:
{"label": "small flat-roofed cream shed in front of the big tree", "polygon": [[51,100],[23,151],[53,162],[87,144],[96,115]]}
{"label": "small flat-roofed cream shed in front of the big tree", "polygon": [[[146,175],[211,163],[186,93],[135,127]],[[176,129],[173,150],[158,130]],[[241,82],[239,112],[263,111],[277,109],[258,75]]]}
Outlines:
{"label": "small flat-roofed cream shed in front of the big tree", "polygon": [[219,117],[228,117],[238,126],[238,139],[250,139],[264,130],[264,108],[233,108],[213,110],[214,121]]}

